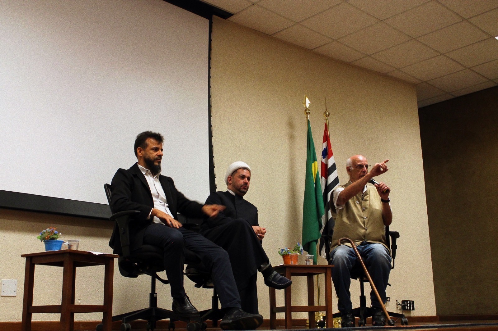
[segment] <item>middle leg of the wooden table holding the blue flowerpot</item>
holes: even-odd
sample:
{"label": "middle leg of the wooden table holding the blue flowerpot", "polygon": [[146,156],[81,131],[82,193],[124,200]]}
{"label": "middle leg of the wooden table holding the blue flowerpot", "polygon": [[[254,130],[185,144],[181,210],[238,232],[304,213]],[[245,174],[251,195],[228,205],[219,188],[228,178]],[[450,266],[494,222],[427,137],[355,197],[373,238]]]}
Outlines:
{"label": "middle leg of the wooden table holding the blue flowerpot", "polygon": [[74,313],[71,312],[71,305],[74,305],[75,282],[74,260],[67,254],[62,272],[61,331],[74,330]]}

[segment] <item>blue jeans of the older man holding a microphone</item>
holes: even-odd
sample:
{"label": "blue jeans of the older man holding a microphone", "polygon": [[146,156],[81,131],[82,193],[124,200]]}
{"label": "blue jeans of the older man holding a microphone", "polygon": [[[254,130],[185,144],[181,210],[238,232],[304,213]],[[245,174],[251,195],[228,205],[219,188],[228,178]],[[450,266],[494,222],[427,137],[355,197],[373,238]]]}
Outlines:
{"label": "blue jeans of the older man holding a microphone", "polygon": [[[375,284],[380,298],[385,304],[385,288],[387,287],[389,272],[391,271],[391,256],[389,251],[382,244],[368,242],[361,243],[357,246],[357,249],[365,262],[365,266],[370,273],[370,277],[372,277],[373,284]],[[330,257],[332,264],[334,264],[332,280],[336,294],[339,297],[337,308],[342,313],[346,313],[353,309],[349,287],[351,284],[351,269],[357,263],[356,253],[353,248],[341,245],[332,250]],[[361,263],[358,262],[358,264],[360,269],[363,269]],[[372,307],[380,308],[377,296],[373,290],[370,292],[370,300]]]}

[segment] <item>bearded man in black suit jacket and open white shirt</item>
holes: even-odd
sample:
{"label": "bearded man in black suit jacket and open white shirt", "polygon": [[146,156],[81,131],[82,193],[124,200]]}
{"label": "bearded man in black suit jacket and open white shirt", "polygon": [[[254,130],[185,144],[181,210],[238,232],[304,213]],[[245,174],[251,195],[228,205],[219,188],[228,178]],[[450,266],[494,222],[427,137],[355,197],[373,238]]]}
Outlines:
{"label": "bearded man in black suit jacket and open white shirt", "polygon": [[[112,180],[111,208],[113,213],[137,210],[130,221],[130,250],[152,245],[162,248],[164,267],[171,285],[172,310],[192,320],[199,312],[190,302],[183,286],[185,250],[193,251],[211,270],[225,317],[220,323],[224,330],[248,330],[261,325],[261,315],[241,309],[230,259],[227,252],[200,234],[185,229],[177,220],[177,212],[188,217],[216,217],[225,209],[221,205],[202,205],[187,199],[175,187],[173,179],[160,174],[163,156],[163,136],[145,131],[135,140],[137,163],[129,169],[119,169]],[[117,228],[109,245],[120,253]]]}

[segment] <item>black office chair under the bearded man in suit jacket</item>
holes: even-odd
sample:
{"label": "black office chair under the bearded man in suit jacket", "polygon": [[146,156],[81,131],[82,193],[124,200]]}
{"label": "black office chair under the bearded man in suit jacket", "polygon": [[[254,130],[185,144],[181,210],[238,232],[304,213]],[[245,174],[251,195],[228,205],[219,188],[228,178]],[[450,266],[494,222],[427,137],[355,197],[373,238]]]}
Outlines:
{"label": "black office chair under the bearded man in suit jacket", "polygon": [[[111,185],[104,184],[107,199],[109,204],[111,204]],[[122,253],[118,258],[118,267],[120,273],[124,277],[136,278],[138,275],[146,274],[151,278],[150,282],[150,294],[149,294],[149,307],[145,309],[139,309],[133,312],[120,314],[113,316],[114,321],[122,321],[121,331],[131,331],[131,325],[129,322],[135,320],[145,320],[147,321],[147,331],[153,331],[156,328],[156,322],[164,319],[169,319],[168,329],[175,329],[175,321],[189,322],[188,320],[181,319],[176,313],[158,308],[157,307],[157,293],[155,290],[155,281],[159,280],[163,284],[168,284],[169,281],[162,279],[157,275],[157,272],[164,270],[163,264],[163,253],[162,250],[152,246],[143,245],[142,248],[130,251],[129,249],[129,231],[128,223],[130,216],[138,214],[136,210],[122,211],[113,214],[109,219],[115,221],[120,230],[120,240]],[[201,264],[202,261],[190,250],[186,251],[185,261],[187,263]],[[201,281],[205,279],[200,278]],[[187,331],[200,331],[205,330],[207,327],[206,323],[196,321],[194,323],[187,324]],[[97,326],[97,331],[102,331],[103,325],[99,324]]]}

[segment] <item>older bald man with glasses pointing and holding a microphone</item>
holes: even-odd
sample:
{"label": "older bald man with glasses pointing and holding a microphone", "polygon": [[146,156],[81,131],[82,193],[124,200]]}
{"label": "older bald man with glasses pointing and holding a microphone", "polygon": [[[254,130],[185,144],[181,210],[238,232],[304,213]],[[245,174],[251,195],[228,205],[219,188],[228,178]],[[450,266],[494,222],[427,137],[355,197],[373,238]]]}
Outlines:
{"label": "older bald man with glasses pointing and holding a microphone", "polygon": [[[348,159],[346,170],[349,182],[339,185],[333,192],[331,201],[332,216],[335,219],[334,234],[330,257],[334,269],[332,280],[339,298],[338,308],[342,315],[342,327],[354,327],[351,295],[351,269],[357,262],[357,256],[350,243],[343,245],[337,241],[343,237],[350,238],[360,252],[373,283],[382,301],[386,302],[385,289],[391,268],[391,256],[385,241],[384,226],[392,221],[389,204],[389,187],[383,182],[371,184],[373,177],[386,172],[387,161],[370,165],[363,155],[355,155]],[[374,326],[385,325],[385,316],[375,294],[371,292],[374,314]]]}

